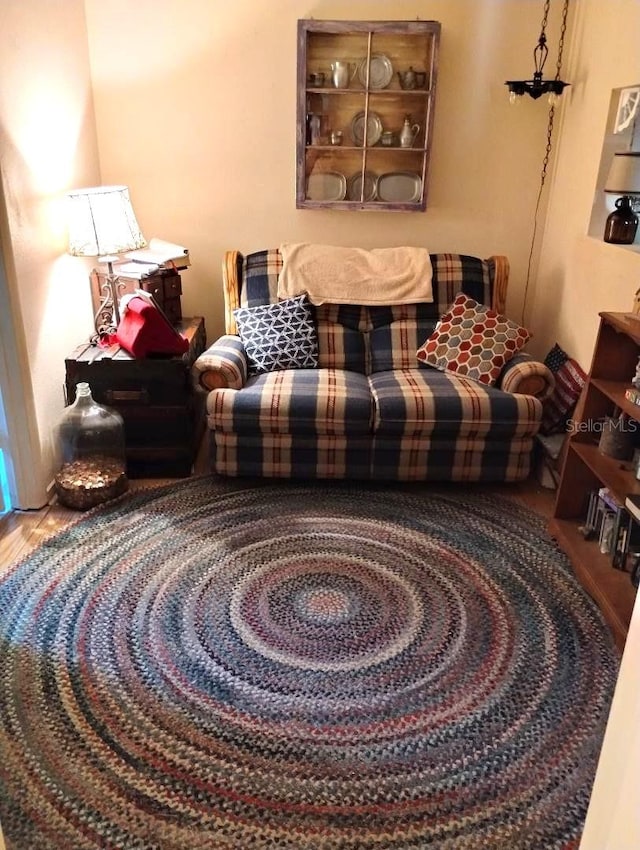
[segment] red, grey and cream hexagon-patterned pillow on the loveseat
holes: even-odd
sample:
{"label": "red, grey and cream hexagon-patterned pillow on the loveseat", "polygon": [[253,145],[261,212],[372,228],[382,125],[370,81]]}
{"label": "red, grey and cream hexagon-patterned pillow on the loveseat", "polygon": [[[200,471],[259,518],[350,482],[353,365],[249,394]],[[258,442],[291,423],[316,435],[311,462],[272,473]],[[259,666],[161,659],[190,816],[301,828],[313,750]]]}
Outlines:
{"label": "red, grey and cream hexagon-patterned pillow on the loveseat", "polygon": [[442,372],[492,386],[529,339],[526,328],[460,292],[416,356]]}

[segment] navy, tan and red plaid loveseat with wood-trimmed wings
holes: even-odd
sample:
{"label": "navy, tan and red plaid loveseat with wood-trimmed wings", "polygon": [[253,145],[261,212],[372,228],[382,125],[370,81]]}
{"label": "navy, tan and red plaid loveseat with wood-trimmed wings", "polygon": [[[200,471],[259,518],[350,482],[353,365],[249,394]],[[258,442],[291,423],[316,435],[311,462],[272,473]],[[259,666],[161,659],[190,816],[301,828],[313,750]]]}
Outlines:
{"label": "navy, tan and red plaid loveseat with wood-trimmed wings", "polygon": [[458,292],[504,310],[508,264],[433,254],[429,304],[315,307],[319,364],[250,374],[233,310],[277,301],[277,250],[225,255],[226,331],[196,360],[212,470],[227,476],[517,481],[553,376],[519,354],[497,386],[419,364]]}

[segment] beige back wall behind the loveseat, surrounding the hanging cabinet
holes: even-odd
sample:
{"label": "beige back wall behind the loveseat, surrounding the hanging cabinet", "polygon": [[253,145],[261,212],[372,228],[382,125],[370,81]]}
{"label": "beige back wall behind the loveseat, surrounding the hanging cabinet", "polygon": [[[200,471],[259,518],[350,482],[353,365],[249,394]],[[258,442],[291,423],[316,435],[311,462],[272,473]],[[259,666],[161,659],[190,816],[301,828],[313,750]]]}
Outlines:
{"label": "beige back wall behind the loveseat, surrounding the hanging cabinet", "polygon": [[[223,252],[285,240],[507,254],[517,316],[547,108],[510,107],[503,83],[530,76],[541,13],[539,0],[87,0],[103,179],[130,186],[147,236],[189,247],[183,308],[210,339]],[[442,23],[427,212],[296,210],[298,18],[417,16]]]}

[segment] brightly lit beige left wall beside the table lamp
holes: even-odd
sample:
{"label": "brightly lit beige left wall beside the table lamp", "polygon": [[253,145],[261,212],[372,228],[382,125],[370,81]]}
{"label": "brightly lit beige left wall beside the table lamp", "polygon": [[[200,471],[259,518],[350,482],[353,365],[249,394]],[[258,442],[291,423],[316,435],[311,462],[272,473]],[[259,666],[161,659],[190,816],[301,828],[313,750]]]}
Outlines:
{"label": "brightly lit beige left wall beside the table lamp", "polygon": [[[33,440],[27,503],[43,504],[64,358],[91,327],[87,268],[65,255],[64,193],[99,182],[82,0],[0,4],[1,247]],[[3,343],[6,340],[3,339]],[[33,413],[31,414],[31,411]],[[33,416],[33,419],[31,418]],[[41,456],[39,456],[41,455]],[[28,461],[27,461],[28,462]],[[23,464],[24,465],[24,464]],[[31,473],[31,470],[27,470]]]}

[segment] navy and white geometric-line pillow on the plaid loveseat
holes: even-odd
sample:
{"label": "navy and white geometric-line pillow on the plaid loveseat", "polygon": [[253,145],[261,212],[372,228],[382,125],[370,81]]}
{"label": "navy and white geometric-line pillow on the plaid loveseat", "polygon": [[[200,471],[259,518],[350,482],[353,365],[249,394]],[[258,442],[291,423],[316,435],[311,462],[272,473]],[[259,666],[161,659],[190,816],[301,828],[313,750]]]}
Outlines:
{"label": "navy and white geometric-line pillow on the plaid loveseat", "polygon": [[318,337],[305,294],[233,314],[252,374],[318,365]]}

